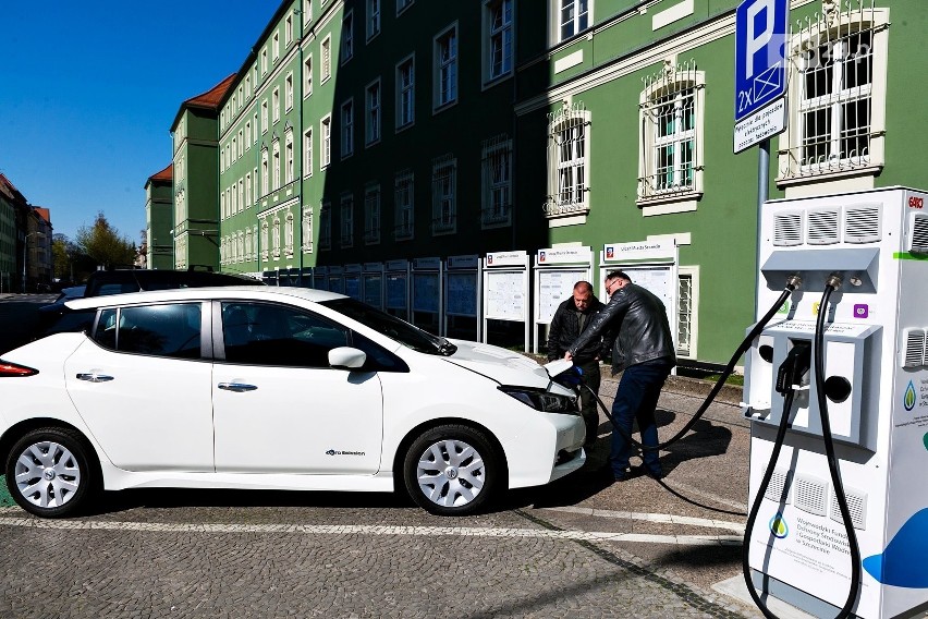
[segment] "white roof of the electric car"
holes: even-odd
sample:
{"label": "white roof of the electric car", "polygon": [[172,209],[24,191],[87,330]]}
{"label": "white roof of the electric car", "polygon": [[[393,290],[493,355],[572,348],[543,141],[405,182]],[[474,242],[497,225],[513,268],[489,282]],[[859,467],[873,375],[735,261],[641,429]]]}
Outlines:
{"label": "white roof of the electric car", "polygon": [[174,288],[145,292],[126,292],[89,296],[68,301],[71,310],[112,307],[114,305],[136,305],[141,303],[164,303],[172,301],[203,301],[211,299],[246,299],[252,301],[285,301],[288,298],[302,299],[314,303],[332,299],[346,299],[344,294],[314,290],[312,288],[290,288],[274,286],[213,286],[204,288]]}

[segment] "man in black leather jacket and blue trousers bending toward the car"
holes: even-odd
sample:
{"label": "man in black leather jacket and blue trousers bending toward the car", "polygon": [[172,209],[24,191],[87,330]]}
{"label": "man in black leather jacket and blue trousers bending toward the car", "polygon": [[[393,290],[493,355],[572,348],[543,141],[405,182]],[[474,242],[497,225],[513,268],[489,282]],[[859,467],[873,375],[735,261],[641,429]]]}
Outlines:
{"label": "man in black leather jacket and blue trousers bending toward the car", "polygon": [[[624,482],[632,475],[628,466],[632,449],[625,438],[632,434],[632,421],[638,421],[642,445],[658,444],[655,409],[661,387],[676,365],[676,353],[660,299],[632,283],[632,278],[620,270],[606,276],[606,292],[612,295],[609,303],[571,344],[564,359],[573,359],[605,330],[618,329],[612,374],[622,372],[622,378],[612,403],[612,417],[625,432],[613,428],[609,462],[615,481]],[[643,450],[642,460],[644,473],[655,478],[663,476],[657,450]]]}

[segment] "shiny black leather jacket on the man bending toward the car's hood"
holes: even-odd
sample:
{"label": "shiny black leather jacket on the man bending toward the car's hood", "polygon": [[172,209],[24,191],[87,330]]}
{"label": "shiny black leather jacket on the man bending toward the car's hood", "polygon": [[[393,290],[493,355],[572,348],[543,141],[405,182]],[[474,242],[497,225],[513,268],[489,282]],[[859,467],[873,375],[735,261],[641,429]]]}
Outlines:
{"label": "shiny black leather jacket on the man bending toward the car's hood", "polygon": [[660,299],[635,283],[615,291],[606,307],[593,319],[577,340],[571,344],[571,355],[582,351],[603,331],[619,330],[612,349],[612,373],[615,374],[646,361],[667,359],[676,365],[676,350],[667,311]]}

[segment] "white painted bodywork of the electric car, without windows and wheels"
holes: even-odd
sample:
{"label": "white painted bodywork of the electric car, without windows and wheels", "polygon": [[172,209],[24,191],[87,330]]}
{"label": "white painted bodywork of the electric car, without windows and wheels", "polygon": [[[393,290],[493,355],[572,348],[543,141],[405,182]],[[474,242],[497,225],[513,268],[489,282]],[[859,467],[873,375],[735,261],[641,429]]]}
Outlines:
{"label": "white painted bodywork of the electric car, without windows and wheels", "polygon": [[[546,484],[584,464],[579,415],[537,411],[498,389],[514,385],[571,395],[551,384],[537,363],[498,347],[457,340],[452,356],[416,352],[317,304],[342,298],[298,288],[223,287],[81,299],[66,305],[228,299],[288,303],[364,335],[401,357],[408,372],[172,360],[111,352],[83,333],[61,333],[3,354],[4,361],[40,372],[0,380],[0,433],[38,416],[74,426],[94,447],[107,489],[392,490],[394,477],[402,478],[402,470],[394,470],[395,462],[402,464],[401,445],[437,420],[485,428],[502,448],[510,488]],[[74,378],[94,372],[118,379]],[[258,389],[233,392],[219,389],[220,383]],[[318,415],[322,422],[317,423]],[[329,450],[364,456],[327,454]],[[570,452],[570,458],[558,465],[559,452]]]}

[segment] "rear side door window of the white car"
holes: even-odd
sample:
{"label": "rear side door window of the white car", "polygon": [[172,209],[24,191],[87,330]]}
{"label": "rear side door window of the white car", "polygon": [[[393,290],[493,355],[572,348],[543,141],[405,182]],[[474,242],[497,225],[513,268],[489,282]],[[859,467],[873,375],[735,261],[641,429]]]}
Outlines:
{"label": "rear side door window of the white car", "polygon": [[170,303],[100,312],[94,340],[118,352],[200,357],[200,304]]}

